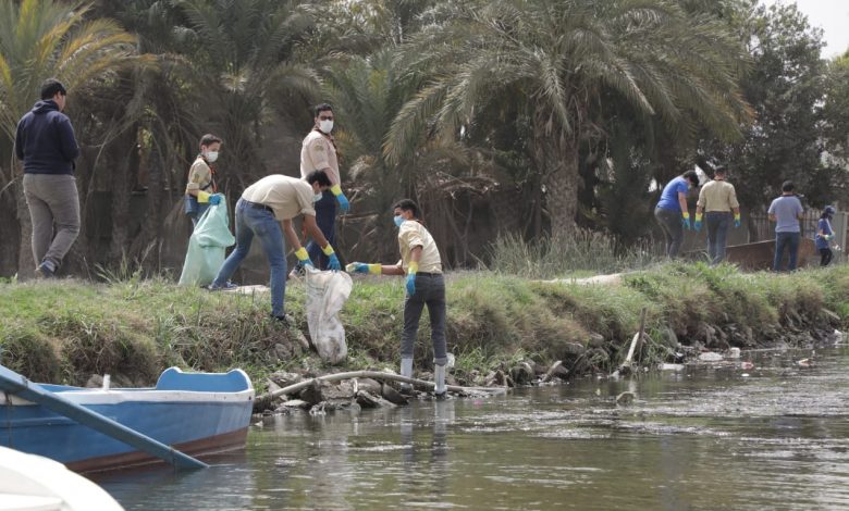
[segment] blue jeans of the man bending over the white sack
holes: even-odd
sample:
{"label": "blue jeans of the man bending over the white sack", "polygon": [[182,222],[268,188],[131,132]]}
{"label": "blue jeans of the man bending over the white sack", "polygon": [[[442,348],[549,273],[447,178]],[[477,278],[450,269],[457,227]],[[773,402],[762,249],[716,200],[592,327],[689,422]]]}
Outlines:
{"label": "blue jeans of the man bending over the white sack", "polygon": [[244,199],[236,202],[236,249],[221,265],[212,287],[223,286],[238,269],[250,251],[254,235],[259,238],[271,266],[271,315],[283,315],[283,297],[286,294],[286,244],[283,229],[271,210],[254,208]]}

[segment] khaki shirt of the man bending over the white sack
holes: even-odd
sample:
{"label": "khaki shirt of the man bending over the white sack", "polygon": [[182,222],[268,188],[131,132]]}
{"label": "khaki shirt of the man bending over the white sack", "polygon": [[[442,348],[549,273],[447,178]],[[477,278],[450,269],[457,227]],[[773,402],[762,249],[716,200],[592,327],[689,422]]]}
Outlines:
{"label": "khaki shirt of the man bending over the white sack", "polygon": [[279,221],[291,220],[299,214],[316,216],[312,187],[297,177],[280,174],[266,176],[248,186],[242,198],[268,205],[274,210],[274,217]]}

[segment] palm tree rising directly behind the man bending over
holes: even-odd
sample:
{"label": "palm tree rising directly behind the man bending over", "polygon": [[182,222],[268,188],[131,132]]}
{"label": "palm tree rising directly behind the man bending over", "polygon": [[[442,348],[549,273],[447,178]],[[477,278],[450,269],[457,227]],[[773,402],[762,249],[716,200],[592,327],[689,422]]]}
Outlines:
{"label": "palm tree rising directly behind the man bending over", "polygon": [[208,129],[224,139],[223,165],[243,171],[230,176],[244,187],[255,175],[264,175],[257,154],[271,98],[295,92],[311,99],[319,90],[316,73],[291,60],[312,16],[295,1],[172,3],[188,20],[181,29],[208,108]]}

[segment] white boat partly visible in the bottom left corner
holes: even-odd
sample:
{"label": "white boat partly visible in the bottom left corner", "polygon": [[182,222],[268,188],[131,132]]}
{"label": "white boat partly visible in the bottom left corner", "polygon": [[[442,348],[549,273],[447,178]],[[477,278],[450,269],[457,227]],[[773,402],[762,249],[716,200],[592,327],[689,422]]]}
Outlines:
{"label": "white boat partly visible in the bottom left corner", "polygon": [[58,461],[0,446],[0,511],[121,511],[103,488]]}

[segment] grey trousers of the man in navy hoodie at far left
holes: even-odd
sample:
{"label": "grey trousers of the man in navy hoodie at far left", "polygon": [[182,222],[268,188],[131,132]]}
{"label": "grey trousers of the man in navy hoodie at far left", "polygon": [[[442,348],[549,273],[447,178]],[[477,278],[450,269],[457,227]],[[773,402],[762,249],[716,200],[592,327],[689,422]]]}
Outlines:
{"label": "grey trousers of the man in navy hoodie at far left", "polygon": [[76,178],[66,174],[24,174],[24,197],[33,220],[33,258],[62,264],[79,234]]}

